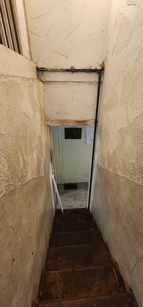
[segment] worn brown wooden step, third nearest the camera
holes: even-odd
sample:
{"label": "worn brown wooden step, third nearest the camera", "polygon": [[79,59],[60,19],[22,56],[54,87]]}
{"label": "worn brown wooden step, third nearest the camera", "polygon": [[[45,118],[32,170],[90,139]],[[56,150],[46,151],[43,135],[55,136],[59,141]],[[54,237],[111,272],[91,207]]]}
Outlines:
{"label": "worn brown wooden step, third nearest the camera", "polygon": [[48,248],[46,270],[64,270],[112,263],[106,244]]}

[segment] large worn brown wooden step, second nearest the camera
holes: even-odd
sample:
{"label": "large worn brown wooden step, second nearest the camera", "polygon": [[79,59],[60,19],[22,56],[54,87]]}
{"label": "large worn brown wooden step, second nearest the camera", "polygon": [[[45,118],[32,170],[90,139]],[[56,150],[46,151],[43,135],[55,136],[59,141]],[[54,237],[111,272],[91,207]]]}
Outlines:
{"label": "large worn brown wooden step, second nearest the camera", "polygon": [[116,266],[42,272],[40,301],[86,298],[124,292]]}

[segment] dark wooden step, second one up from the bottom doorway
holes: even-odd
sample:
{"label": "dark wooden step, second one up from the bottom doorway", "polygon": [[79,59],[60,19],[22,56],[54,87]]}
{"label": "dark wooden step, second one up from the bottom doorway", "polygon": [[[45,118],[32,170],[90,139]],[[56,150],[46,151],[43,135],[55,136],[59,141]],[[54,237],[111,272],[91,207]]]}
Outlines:
{"label": "dark wooden step, second one up from the bottom doorway", "polygon": [[72,222],[86,222],[93,221],[93,216],[91,213],[82,214],[66,214],[66,215],[56,215],[54,223],[72,223]]}

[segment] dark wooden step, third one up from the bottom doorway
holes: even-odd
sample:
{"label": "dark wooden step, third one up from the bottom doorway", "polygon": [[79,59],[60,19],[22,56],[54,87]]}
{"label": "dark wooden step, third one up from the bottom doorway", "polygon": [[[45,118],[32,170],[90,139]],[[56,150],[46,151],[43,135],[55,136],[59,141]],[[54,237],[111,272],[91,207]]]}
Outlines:
{"label": "dark wooden step, third one up from the bottom doorway", "polygon": [[69,232],[69,231],[87,231],[87,230],[96,230],[96,229],[97,226],[94,221],[53,224],[53,233]]}

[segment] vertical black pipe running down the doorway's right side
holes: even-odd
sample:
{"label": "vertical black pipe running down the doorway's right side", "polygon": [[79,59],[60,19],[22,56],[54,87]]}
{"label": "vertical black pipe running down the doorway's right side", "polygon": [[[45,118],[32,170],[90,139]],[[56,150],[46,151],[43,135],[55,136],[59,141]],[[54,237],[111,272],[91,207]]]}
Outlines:
{"label": "vertical black pipe running down the doorway's right side", "polygon": [[88,209],[90,209],[91,185],[92,185],[93,169],[94,169],[94,157],[95,157],[95,148],[96,148],[95,140],[96,140],[96,132],[97,132],[97,117],[98,117],[99,95],[100,95],[100,86],[101,86],[101,74],[102,74],[102,72],[100,72],[99,80],[98,80],[97,104],[96,104],[94,138],[93,138],[93,150],[92,150],[91,172],[90,172],[90,186],[89,186]]}

